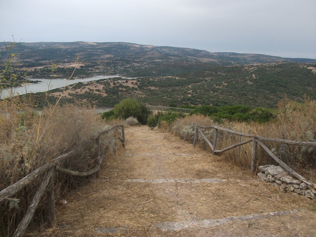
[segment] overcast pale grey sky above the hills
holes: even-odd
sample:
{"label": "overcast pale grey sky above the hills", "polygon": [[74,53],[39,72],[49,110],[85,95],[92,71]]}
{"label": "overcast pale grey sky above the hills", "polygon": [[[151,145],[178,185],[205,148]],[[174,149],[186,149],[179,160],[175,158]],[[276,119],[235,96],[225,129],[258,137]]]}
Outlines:
{"label": "overcast pale grey sky above the hills", "polygon": [[0,40],[316,58],[316,0],[0,0]]}

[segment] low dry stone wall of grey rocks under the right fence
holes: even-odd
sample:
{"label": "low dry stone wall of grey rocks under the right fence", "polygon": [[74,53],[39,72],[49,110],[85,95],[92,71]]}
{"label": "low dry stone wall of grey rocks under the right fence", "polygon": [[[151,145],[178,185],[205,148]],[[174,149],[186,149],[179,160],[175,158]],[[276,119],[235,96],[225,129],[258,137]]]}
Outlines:
{"label": "low dry stone wall of grey rocks under the right fence", "polygon": [[297,195],[304,195],[312,199],[315,198],[315,193],[312,189],[300,180],[294,179],[281,166],[264,165],[258,168],[260,173],[257,175],[260,181],[279,186],[280,191],[283,192],[294,192]]}

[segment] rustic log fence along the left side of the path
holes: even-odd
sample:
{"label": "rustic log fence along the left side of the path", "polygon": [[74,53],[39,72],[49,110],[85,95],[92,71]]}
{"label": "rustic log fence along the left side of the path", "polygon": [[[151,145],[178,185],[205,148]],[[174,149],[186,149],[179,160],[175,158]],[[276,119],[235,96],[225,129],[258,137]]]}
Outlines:
{"label": "rustic log fence along the left side of the path", "polygon": [[[93,137],[91,137],[86,143],[81,145],[80,147],[77,147],[70,152],[67,152],[66,154],[60,155],[51,162],[46,163],[45,165],[39,167],[38,169],[34,170],[32,173],[28,174],[24,178],[17,181],[15,184],[10,185],[9,187],[3,189],[0,192],[0,200],[9,198],[10,196],[15,195],[18,191],[20,191],[23,187],[30,184],[34,179],[39,177],[41,174],[44,174],[44,179],[42,180],[42,183],[40,187],[38,188],[37,192],[35,193],[33,200],[31,204],[29,205],[27,212],[18,225],[18,227],[15,230],[15,233],[13,234],[14,237],[22,236],[25,231],[27,230],[27,227],[29,223],[31,222],[34,212],[40,203],[41,197],[46,191],[46,188],[48,186],[48,189],[46,191],[47,194],[47,205],[48,205],[48,217],[49,217],[49,224],[51,227],[53,227],[56,223],[56,216],[55,216],[55,197],[54,197],[54,171],[58,171],[61,173],[65,173],[68,175],[74,175],[74,176],[89,176],[93,173],[96,173],[97,176],[100,175],[100,165],[103,161],[104,155],[108,149],[106,147],[102,153],[100,152],[100,136],[103,134],[108,133],[109,131],[112,131],[113,129],[121,128],[121,135],[119,136],[119,140],[121,141],[123,147],[125,147],[125,135],[124,135],[124,125],[113,125],[112,127],[98,132]],[[78,172],[78,171],[72,171],[69,169],[65,169],[63,167],[59,167],[57,165],[58,162],[64,161],[66,158],[70,158],[76,154],[78,154],[80,151],[86,149],[88,144],[95,141],[95,144],[97,145],[97,149],[95,152],[95,164],[94,167],[91,168],[91,170],[87,172]]]}

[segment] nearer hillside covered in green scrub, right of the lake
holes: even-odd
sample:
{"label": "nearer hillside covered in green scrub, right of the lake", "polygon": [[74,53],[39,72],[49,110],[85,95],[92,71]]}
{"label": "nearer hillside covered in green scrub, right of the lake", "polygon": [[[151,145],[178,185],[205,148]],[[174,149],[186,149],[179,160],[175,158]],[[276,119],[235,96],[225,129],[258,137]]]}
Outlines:
{"label": "nearer hillside covered in green scrub, right of the lake", "polygon": [[[314,64],[311,66],[316,67]],[[86,101],[97,107],[113,107],[124,98],[134,98],[144,104],[172,104],[186,108],[199,105],[276,108],[277,101],[284,94],[298,102],[302,102],[305,95],[316,98],[316,75],[307,66],[296,63],[258,67],[213,66],[178,76],[142,77],[133,80],[132,86],[117,83],[120,79],[98,80],[101,89],[89,87],[84,92],[81,91],[91,86],[92,82],[78,83],[74,89],[79,91],[70,93],[68,100],[76,103]],[[52,92],[56,91],[58,89]]]}

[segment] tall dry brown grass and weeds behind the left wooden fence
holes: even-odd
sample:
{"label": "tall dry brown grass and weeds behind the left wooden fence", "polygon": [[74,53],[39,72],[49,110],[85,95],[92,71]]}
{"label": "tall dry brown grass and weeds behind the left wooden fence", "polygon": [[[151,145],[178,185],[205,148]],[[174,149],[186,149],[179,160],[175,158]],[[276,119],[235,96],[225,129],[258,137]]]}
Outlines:
{"label": "tall dry brown grass and weeds behind the left wooden fence", "polygon": [[[51,105],[41,114],[32,98],[11,98],[0,103],[0,189],[14,184],[48,161],[79,146],[106,124],[89,107]],[[105,135],[102,147],[115,134]],[[87,171],[94,165],[95,146],[62,165],[72,170]],[[42,177],[34,180],[12,199],[1,204],[0,235],[5,236],[21,221]],[[82,179],[56,173],[55,198],[64,197]],[[44,197],[45,200],[45,197]],[[34,224],[46,222],[45,202],[35,213]]]}

